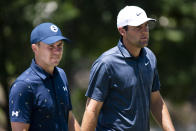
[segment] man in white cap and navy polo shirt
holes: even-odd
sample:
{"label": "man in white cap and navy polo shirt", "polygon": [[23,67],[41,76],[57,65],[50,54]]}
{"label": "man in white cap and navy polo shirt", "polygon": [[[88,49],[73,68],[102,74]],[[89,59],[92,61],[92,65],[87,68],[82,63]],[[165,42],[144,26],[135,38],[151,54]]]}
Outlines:
{"label": "man in white cap and navy polo shirt", "polygon": [[150,111],[164,131],[174,131],[159,90],[156,58],[147,48],[148,18],[137,6],[117,17],[118,45],[93,64],[82,131],[149,131]]}

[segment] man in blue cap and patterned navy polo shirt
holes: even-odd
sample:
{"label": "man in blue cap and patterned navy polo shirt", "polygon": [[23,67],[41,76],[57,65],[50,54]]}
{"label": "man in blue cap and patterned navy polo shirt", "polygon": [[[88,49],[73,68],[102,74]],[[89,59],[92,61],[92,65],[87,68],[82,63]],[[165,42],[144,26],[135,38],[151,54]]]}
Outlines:
{"label": "man in blue cap and patterned navy polo shirt", "polygon": [[35,58],[13,83],[9,96],[13,131],[79,131],[72,114],[66,74],[57,67],[63,54],[60,29],[42,23],[31,32]]}

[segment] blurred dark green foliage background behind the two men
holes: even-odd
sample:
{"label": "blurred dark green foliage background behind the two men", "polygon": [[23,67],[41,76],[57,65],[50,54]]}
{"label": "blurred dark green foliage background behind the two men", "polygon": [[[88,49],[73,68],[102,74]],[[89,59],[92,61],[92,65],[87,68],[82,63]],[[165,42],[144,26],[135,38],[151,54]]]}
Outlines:
{"label": "blurred dark green foliage background behind the two men", "polygon": [[[93,61],[119,39],[116,17],[125,5],[142,7],[157,19],[149,48],[157,56],[161,93],[177,131],[196,131],[195,0],[1,0],[0,131],[9,131],[9,88],[29,67],[30,33],[42,22],[57,24],[72,40],[60,67],[71,89],[73,112],[81,123]],[[160,128],[151,118],[151,131]]]}

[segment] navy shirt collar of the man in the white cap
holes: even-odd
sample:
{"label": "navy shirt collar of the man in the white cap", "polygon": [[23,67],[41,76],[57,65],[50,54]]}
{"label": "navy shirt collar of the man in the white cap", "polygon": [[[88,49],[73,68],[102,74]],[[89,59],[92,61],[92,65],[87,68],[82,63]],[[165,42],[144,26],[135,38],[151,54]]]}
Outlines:
{"label": "navy shirt collar of the man in the white cap", "polygon": [[[122,53],[122,55],[125,58],[134,58],[134,56],[132,56],[129,51],[126,49],[126,47],[124,46],[124,44],[122,43],[122,39],[120,39],[118,41],[118,48],[120,50],[120,52]],[[140,56],[139,57],[144,57],[146,55],[146,51],[144,48],[141,49],[140,51]]]}

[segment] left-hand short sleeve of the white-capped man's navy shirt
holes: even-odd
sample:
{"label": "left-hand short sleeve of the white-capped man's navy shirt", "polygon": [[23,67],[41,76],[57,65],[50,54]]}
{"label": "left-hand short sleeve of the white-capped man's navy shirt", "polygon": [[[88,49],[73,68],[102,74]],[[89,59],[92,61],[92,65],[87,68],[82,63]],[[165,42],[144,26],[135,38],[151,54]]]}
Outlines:
{"label": "left-hand short sleeve of the white-capped man's navy shirt", "polygon": [[105,100],[111,79],[107,68],[102,61],[93,64],[86,96],[102,102]]}

